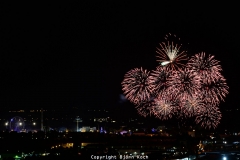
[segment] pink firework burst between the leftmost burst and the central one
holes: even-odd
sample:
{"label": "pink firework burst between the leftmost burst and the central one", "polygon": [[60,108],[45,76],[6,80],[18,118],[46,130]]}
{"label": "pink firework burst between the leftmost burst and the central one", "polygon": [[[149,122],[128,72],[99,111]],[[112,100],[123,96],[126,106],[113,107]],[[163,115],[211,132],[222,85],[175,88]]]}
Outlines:
{"label": "pink firework burst between the leftmost burst and the central one", "polygon": [[155,71],[152,71],[149,76],[149,85],[156,96],[166,93],[168,88],[167,81],[172,71],[166,69],[166,67],[159,66]]}

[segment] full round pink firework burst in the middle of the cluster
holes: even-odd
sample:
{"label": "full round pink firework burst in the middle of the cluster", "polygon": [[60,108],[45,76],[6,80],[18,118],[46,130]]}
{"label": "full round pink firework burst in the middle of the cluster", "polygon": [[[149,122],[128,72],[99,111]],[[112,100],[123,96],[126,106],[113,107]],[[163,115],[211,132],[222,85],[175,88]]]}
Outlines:
{"label": "full round pink firework burst in the middle of the cluster", "polygon": [[169,78],[168,85],[170,86],[168,90],[172,93],[172,97],[182,101],[191,98],[192,95],[199,94],[201,88],[199,76],[186,68],[174,71]]}

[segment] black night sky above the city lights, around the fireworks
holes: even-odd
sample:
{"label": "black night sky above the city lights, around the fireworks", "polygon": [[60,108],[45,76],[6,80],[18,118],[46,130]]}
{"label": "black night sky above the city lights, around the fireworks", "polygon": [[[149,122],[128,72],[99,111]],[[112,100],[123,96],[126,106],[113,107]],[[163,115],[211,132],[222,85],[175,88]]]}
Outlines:
{"label": "black night sky above the city lights, around the fireworks", "polygon": [[124,74],[135,67],[155,69],[155,50],[167,33],[180,37],[190,55],[205,51],[221,61],[230,94],[220,108],[239,107],[237,5],[71,2],[1,8],[1,107],[115,107]]}

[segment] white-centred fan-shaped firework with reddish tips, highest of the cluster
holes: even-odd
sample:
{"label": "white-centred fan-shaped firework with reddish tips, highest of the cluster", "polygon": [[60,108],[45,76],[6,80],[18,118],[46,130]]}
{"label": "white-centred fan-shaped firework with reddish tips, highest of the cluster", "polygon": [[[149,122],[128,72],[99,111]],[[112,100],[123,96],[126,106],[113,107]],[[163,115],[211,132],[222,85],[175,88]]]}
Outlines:
{"label": "white-centred fan-shaped firework with reddish tips, highest of the cluster", "polygon": [[[186,51],[181,51],[181,44],[175,44],[170,41],[170,38],[176,38],[176,35],[166,35],[167,42],[162,42],[160,48],[157,48],[157,58],[161,66],[166,66],[169,69],[179,69],[184,66],[183,62],[188,60]],[[178,39],[180,40],[180,39]]]}

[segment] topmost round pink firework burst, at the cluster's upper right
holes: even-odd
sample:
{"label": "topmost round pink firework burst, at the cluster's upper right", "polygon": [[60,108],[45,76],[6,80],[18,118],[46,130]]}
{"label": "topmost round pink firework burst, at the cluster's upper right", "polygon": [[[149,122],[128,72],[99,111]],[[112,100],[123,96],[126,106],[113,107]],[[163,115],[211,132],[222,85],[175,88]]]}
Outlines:
{"label": "topmost round pink firework burst, at the cluster's upper right", "polygon": [[192,56],[187,68],[196,72],[203,82],[211,82],[221,77],[222,67],[219,61],[214,59],[213,55],[206,56],[204,52]]}

